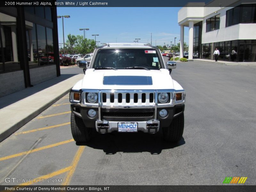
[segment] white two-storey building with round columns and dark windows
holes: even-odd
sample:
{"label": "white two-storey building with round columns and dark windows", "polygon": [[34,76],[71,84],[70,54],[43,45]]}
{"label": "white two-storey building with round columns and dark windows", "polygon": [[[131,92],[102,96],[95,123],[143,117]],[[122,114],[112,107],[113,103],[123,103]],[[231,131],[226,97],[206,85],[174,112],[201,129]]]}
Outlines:
{"label": "white two-storey building with round columns and dark windows", "polygon": [[180,54],[184,50],[181,43],[184,42],[184,27],[189,27],[188,59],[213,60],[213,52],[218,48],[219,60],[255,62],[256,3],[233,0],[225,7],[221,3],[214,7],[215,1],[206,5],[188,4],[180,9]]}

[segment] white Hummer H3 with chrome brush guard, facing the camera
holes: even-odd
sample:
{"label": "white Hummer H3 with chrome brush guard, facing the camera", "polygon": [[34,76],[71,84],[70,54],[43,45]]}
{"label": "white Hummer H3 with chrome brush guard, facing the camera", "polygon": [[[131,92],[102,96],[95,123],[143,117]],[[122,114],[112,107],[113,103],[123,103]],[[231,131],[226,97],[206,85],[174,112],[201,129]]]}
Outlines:
{"label": "white Hummer H3 with chrome brush guard, facing the camera", "polygon": [[[84,78],[70,90],[71,133],[76,142],[117,132],[157,133],[178,142],[184,130],[185,91],[170,73],[176,62],[157,47],[108,44],[94,51]],[[83,62],[83,61],[82,61]],[[118,136],[118,134],[116,134]]]}

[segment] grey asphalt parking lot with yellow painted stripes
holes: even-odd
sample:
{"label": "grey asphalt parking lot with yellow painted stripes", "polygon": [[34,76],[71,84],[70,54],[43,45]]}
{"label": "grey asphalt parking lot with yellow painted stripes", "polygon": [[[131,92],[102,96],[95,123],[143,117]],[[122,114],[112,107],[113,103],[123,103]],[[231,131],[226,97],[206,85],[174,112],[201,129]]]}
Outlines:
{"label": "grey asphalt parking lot with yellow painted stripes", "polygon": [[0,143],[0,184],[222,185],[248,177],[244,185],[255,185],[256,66],[178,62],[172,77],[186,91],[179,143],[164,142],[162,132],[114,132],[76,145],[66,95]]}

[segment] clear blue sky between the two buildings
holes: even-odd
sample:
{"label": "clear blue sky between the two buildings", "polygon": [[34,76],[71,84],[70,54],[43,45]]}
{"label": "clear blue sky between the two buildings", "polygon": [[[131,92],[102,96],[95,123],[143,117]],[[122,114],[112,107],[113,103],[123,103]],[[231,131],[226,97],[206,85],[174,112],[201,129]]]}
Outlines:
{"label": "clear blue sky between the two buildings", "polygon": [[[83,35],[79,28],[89,28],[86,38],[100,43],[139,43],[152,45],[176,45],[180,39],[178,11],[180,7],[57,7],[58,15],[64,18],[64,37],[68,34]],[[58,19],[59,43],[63,43],[62,19]],[[188,28],[184,29],[184,42],[188,44]],[[100,45],[99,43],[99,45]]]}

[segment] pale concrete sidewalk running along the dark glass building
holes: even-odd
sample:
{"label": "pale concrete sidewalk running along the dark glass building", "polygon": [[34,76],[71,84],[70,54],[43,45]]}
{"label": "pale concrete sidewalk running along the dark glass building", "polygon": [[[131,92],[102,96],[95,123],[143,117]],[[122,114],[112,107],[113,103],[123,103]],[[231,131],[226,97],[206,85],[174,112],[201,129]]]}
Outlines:
{"label": "pale concrete sidewalk running along the dark glass building", "polygon": [[2,97],[0,106],[3,107],[5,102],[10,103],[10,100],[25,95],[23,98],[20,97],[20,100],[16,102],[14,100],[10,105],[0,109],[0,142],[67,94],[83,76],[84,74],[78,74],[65,80],[61,79],[61,76],[56,77]]}

